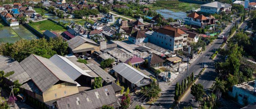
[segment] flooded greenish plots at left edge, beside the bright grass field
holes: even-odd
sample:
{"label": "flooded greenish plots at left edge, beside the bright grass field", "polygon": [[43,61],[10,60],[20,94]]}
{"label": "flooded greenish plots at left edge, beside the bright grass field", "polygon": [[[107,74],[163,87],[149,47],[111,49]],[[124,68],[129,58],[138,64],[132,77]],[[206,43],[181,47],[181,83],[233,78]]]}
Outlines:
{"label": "flooded greenish plots at left edge, beside the bright grass field", "polygon": [[31,40],[33,38],[37,38],[37,36],[21,25],[0,29],[0,43],[15,43],[22,38]]}

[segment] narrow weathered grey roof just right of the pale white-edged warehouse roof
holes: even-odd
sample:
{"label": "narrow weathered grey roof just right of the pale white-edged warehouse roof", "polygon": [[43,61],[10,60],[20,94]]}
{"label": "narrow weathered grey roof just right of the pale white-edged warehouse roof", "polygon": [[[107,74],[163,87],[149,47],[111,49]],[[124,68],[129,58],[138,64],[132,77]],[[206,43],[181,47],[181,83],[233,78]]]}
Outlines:
{"label": "narrow weathered grey roof just right of the pale white-edged warehouse roof", "polygon": [[107,83],[115,81],[116,79],[95,64],[86,64],[92,71],[99,75]]}

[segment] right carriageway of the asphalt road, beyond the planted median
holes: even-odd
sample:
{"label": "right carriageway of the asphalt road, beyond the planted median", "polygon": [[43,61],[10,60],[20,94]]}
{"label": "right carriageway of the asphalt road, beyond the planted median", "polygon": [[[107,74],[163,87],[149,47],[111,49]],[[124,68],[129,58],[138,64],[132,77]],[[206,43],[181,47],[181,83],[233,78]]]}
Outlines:
{"label": "right carriageway of the asphalt road, beyond the planted median", "polygon": [[[243,22],[243,24],[240,26],[239,29],[244,29],[246,27],[247,20]],[[230,30],[228,30],[228,31],[230,31]],[[226,31],[226,32],[228,32],[228,31]],[[225,34],[226,32],[224,32],[223,34]],[[220,45],[216,44],[216,46],[219,47]],[[206,69],[205,73],[199,78],[199,80],[196,82],[196,84],[201,83],[203,85],[204,89],[211,88],[211,86],[214,82],[214,79],[217,77],[217,73],[215,72],[215,68],[214,68],[214,62],[219,61],[219,59],[220,59],[220,57],[216,57],[215,60],[210,60],[209,58],[207,58],[205,60],[205,62],[207,62],[206,64],[209,67]],[[183,99],[183,102],[180,103],[179,107],[183,108],[186,106],[192,106],[193,108],[197,108],[198,102],[196,102],[195,100],[192,101],[192,97],[193,97],[193,95],[188,93],[187,96]]]}

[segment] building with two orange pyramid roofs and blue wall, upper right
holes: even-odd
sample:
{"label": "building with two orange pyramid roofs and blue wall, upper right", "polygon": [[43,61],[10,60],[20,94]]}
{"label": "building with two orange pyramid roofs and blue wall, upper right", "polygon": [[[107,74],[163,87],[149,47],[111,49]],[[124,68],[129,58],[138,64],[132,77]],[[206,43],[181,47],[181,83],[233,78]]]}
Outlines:
{"label": "building with two orange pyramid roofs and blue wall, upper right", "polygon": [[200,28],[204,28],[208,25],[214,25],[216,19],[212,15],[205,17],[204,15],[198,15],[196,12],[193,12],[189,14],[184,20],[185,24],[187,25],[195,25],[199,26]]}

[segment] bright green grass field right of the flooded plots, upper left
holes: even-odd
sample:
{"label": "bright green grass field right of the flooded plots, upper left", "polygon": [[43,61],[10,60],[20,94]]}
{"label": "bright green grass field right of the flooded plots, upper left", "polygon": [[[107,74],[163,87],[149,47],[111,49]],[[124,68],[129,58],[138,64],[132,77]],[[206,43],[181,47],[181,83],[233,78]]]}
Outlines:
{"label": "bright green grass field right of the flooded plots, upper left", "polygon": [[33,27],[34,29],[36,29],[37,31],[41,32],[41,33],[43,33],[45,30],[55,31],[55,32],[58,32],[58,33],[66,31],[65,28],[55,24],[54,22],[52,22],[50,20],[32,22],[32,23],[28,23],[28,24],[31,27]]}

